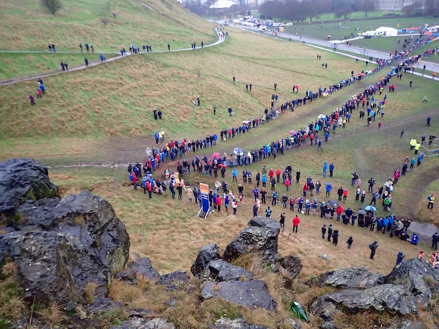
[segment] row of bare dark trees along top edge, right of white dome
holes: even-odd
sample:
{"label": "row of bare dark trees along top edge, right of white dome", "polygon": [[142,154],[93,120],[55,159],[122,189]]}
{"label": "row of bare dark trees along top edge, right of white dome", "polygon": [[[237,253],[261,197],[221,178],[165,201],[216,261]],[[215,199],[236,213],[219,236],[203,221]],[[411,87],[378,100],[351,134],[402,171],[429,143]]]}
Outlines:
{"label": "row of bare dark trees along top edge, right of white dome", "polygon": [[368,16],[376,8],[375,0],[275,0],[263,3],[259,11],[266,19],[302,22],[328,12],[333,12],[337,19],[346,19],[352,12],[364,12]]}

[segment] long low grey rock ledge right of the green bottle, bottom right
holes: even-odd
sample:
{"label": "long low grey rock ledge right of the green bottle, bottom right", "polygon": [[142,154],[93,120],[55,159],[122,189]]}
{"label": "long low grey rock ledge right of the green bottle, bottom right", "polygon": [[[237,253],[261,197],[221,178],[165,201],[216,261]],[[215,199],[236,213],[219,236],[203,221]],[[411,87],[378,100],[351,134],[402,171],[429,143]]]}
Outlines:
{"label": "long low grey rock ledge right of the green bottle, bottom right", "polygon": [[[381,284],[367,289],[325,293],[311,303],[311,312],[327,322],[331,322],[339,310],[347,314],[372,310],[387,311],[394,315],[416,315],[418,305],[410,291],[396,284]],[[325,328],[336,327],[333,327],[333,324],[327,324]]]}

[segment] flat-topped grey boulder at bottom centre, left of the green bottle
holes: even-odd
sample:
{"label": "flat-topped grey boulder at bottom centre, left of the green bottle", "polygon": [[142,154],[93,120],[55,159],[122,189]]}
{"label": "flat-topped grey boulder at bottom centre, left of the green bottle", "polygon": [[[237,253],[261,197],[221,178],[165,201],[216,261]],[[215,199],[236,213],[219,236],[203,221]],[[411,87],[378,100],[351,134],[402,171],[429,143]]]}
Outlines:
{"label": "flat-topped grey boulder at bottom centre, left of the green bottle", "polygon": [[206,282],[200,297],[202,300],[220,297],[227,302],[233,302],[241,306],[276,310],[276,301],[270,295],[267,285],[262,280],[246,282],[231,280],[217,284],[211,281]]}

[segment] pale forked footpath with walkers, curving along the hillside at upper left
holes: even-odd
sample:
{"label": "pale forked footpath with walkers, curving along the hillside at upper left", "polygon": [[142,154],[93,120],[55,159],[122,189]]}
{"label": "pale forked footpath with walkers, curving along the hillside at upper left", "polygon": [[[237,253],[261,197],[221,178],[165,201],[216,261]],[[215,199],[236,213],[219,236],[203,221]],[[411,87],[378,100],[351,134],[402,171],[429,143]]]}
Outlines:
{"label": "pale forked footpath with walkers, curving along the hillside at upper left", "polygon": [[[219,38],[219,35],[218,35],[218,40],[216,42],[213,42],[210,45],[204,45],[204,48],[213,47],[213,46],[219,45],[220,43],[224,42],[224,40],[225,40],[225,38]],[[196,49],[201,49],[201,47],[200,46],[196,47]],[[154,51],[154,53],[168,53],[168,52],[175,52],[175,51],[193,51],[193,49],[192,48],[171,49],[171,51],[157,50],[157,51]],[[11,50],[11,51],[0,51],[0,53],[47,53],[47,51],[14,51],[14,50]],[[79,52],[74,52],[74,51],[71,51],[71,52],[70,51],[65,51],[65,52],[57,51],[57,53],[81,53],[81,52],[80,51]],[[97,53],[95,53],[95,54],[97,54]],[[137,55],[138,56],[141,56],[141,55],[145,56],[145,55],[148,55],[148,54],[149,53],[139,53]],[[48,55],[50,55],[50,53],[48,53]],[[130,53],[127,53],[126,56],[132,56],[132,55]],[[119,59],[121,59],[123,57],[126,57],[126,56],[115,56],[115,57],[112,57],[112,58],[108,58],[108,60],[106,60],[106,62],[112,62],[113,60],[119,60]],[[101,65],[101,64],[105,64],[105,63],[101,63],[100,60],[97,60],[97,61],[94,61],[94,62],[90,61],[90,62],[88,62],[88,67],[90,68],[90,67]],[[84,70],[84,69],[86,69],[85,64],[84,65],[71,66],[71,67],[69,67],[69,72],[68,73],[74,72],[74,71],[80,71],[80,70]],[[47,73],[25,75],[25,76],[21,76],[21,77],[12,77],[11,79],[1,80],[0,81],[0,86],[8,86],[9,84],[16,84],[17,82],[34,80],[37,77],[49,77],[51,75],[57,75],[57,74],[61,74],[61,73],[68,74],[66,72],[63,72],[63,71],[60,71],[60,70],[58,71],[57,70],[57,71],[50,71],[50,72],[47,72]]]}

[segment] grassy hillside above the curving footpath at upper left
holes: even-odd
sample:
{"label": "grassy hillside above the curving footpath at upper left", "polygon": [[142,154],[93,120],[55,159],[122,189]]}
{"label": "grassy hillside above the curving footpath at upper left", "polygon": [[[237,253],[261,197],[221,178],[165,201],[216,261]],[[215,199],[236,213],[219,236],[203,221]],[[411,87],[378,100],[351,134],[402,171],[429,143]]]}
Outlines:
{"label": "grassy hillside above the curving footpath at upper left", "polygon": [[[79,51],[93,44],[95,51],[119,51],[121,45],[152,45],[165,49],[189,47],[194,40],[214,39],[213,24],[182,8],[174,0],[61,0],[52,15],[39,0],[0,3],[0,49]],[[117,14],[115,19],[112,13]],[[104,24],[103,22],[107,23]]]}

